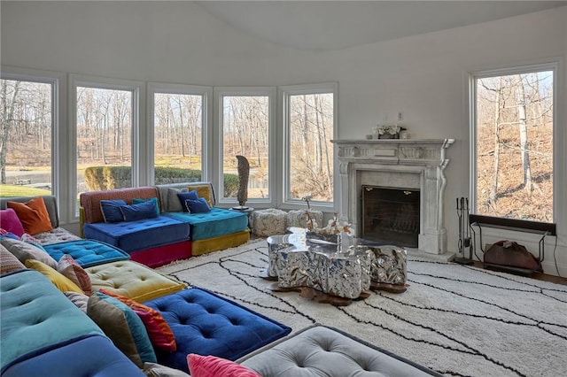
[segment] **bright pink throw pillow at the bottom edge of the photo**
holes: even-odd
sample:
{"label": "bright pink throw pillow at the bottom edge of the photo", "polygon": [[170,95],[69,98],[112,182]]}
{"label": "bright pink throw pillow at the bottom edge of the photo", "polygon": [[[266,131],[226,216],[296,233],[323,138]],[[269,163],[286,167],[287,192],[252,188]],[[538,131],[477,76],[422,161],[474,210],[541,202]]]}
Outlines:
{"label": "bright pink throw pillow at the bottom edge of the photo", "polygon": [[187,355],[187,365],[191,377],[262,377],[243,365],[216,356],[190,353]]}

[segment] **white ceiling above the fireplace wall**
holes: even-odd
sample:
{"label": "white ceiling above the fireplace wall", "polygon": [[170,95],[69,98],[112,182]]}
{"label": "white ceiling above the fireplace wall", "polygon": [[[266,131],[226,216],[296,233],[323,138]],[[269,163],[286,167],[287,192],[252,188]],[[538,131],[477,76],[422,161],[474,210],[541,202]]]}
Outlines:
{"label": "white ceiling above the fireplace wall", "polygon": [[302,50],[338,50],[503,19],[567,1],[199,1],[237,29]]}

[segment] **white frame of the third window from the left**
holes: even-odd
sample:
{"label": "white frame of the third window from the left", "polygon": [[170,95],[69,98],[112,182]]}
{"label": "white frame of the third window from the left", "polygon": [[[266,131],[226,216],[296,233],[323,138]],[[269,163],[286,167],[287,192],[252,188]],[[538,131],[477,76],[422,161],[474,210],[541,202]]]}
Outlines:
{"label": "white frame of the third window from the left", "polygon": [[211,161],[213,159],[213,137],[211,137],[211,119],[213,119],[213,87],[198,86],[198,85],[183,85],[183,84],[169,84],[162,82],[149,82],[147,86],[148,90],[148,104],[147,104],[147,135],[145,139],[148,142],[146,144],[145,150],[147,150],[147,158],[149,162],[149,173],[148,184],[154,184],[154,172],[155,172],[155,161],[154,161],[154,128],[155,128],[155,95],[156,93],[162,94],[178,94],[178,95],[189,95],[189,96],[201,96],[203,104],[203,114],[202,114],[202,125],[201,125],[201,180],[210,181],[210,171],[212,170]]}

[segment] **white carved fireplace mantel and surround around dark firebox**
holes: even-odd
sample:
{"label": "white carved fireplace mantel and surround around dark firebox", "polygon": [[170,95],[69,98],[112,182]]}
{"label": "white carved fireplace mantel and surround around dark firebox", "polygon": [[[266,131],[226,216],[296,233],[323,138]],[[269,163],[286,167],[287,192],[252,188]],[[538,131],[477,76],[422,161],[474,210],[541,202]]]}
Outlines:
{"label": "white carved fireplace mantel and surround around dark firebox", "polygon": [[339,219],[360,235],[361,186],[420,190],[419,250],[443,254],[447,231],[443,219],[445,150],[454,139],[333,140],[340,173]]}

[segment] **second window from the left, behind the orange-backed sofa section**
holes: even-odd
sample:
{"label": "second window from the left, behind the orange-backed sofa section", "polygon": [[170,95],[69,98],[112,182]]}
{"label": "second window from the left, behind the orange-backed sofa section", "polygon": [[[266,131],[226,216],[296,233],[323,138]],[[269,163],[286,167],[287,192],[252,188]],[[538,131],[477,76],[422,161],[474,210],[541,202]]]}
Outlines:
{"label": "second window from the left, behind the orange-backed sofa section", "polygon": [[82,192],[138,186],[139,91],[128,82],[74,80],[77,199]]}

